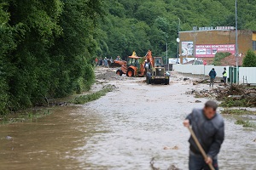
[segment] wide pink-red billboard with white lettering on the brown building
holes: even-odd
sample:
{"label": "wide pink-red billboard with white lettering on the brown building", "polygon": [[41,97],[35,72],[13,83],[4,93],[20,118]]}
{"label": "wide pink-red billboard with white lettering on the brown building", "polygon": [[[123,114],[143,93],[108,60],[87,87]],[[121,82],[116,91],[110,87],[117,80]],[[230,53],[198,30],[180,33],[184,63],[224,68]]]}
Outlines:
{"label": "wide pink-red billboard with white lettering on the brown building", "polygon": [[221,44],[221,45],[195,45],[195,57],[214,57],[218,52],[230,52],[235,54],[235,44]]}

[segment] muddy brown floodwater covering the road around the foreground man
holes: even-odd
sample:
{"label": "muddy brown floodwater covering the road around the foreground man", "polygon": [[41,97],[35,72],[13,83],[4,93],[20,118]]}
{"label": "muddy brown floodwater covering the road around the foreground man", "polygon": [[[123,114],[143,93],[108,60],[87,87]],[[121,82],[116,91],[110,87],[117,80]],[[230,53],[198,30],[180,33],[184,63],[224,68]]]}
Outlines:
{"label": "muddy brown floodwater covering the road around the foreground man", "polygon": [[[189,131],[182,121],[207,99],[195,103],[185,94],[195,88],[189,83],[125,82],[111,82],[118,88],[89,104],[59,107],[37,121],[1,126],[0,169],[146,170],[152,157],[160,169],[188,169]],[[198,88],[207,88],[202,86]],[[255,130],[224,118],[219,167],[256,169]]]}

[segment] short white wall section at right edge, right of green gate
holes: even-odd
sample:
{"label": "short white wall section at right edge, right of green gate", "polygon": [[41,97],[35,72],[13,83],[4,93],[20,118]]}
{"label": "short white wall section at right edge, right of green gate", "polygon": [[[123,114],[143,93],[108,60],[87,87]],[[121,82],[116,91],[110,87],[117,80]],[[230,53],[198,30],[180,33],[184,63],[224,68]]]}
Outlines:
{"label": "short white wall section at right edge, right of green gate", "polygon": [[[256,84],[256,67],[240,67],[239,68],[239,83]],[[246,80],[243,80],[247,78]]]}

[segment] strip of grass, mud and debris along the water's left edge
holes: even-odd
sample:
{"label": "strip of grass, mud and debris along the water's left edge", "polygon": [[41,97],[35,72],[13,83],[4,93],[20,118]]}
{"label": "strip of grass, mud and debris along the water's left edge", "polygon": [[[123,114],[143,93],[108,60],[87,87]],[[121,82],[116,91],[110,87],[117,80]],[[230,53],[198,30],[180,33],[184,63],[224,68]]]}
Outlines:
{"label": "strip of grass, mud and debris along the water's left edge", "polygon": [[73,94],[66,98],[61,99],[48,99],[48,103],[42,106],[35,106],[24,111],[15,111],[6,115],[0,116],[0,125],[9,124],[15,122],[31,122],[48,116],[55,112],[58,107],[64,107],[68,105],[83,105],[85,103],[100,99],[108,92],[114,90],[114,85],[108,84],[111,80],[120,79],[115,75],[113,71],[109,71],[107,68],[96,67],[96,82],[92,85],[90,91],[83,94]]}

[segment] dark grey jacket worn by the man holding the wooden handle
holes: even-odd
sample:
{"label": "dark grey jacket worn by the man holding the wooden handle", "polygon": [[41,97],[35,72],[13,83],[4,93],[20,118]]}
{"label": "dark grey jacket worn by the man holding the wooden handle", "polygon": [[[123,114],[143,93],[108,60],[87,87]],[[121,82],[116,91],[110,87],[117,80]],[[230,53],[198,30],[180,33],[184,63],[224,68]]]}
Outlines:
{"label": "dark grey jacket worn by the man holding the wooden handle", "polygon": [[[207,156],[216,159],[220,146],[224,141],[224,120],[218,113],[212,118],[207,119],[202,109],[194,109],[187,118],[195,136],[199,140]],[[195,144],[194,139],[190,137],[190,150],[200,155],[201,152]]]}

